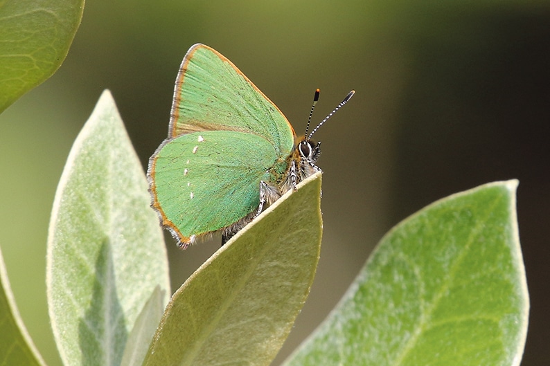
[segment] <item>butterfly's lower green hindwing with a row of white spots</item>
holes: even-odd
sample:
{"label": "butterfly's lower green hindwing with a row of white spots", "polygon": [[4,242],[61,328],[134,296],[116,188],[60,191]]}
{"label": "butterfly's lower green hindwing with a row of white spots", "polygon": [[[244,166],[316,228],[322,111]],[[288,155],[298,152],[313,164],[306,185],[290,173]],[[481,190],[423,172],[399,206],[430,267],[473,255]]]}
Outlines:
{"label": "butterfly's lower green hindwing with a row of white spots", "polygon": [[164,226],[182,245],[258,208],[260,181],[285,161],[255,134],[202,131],[166,140],[150,160],[150,190]]}

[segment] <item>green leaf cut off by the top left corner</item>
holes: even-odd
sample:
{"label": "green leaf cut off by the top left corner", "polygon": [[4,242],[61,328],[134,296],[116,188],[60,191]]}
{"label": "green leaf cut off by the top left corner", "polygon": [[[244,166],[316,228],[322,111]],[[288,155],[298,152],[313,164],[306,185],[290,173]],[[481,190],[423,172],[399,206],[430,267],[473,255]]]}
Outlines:
{"label": "green leaf cut off by the top left corner", "polygon": [[0,1],[0,113],[59,68],[84,0]]}

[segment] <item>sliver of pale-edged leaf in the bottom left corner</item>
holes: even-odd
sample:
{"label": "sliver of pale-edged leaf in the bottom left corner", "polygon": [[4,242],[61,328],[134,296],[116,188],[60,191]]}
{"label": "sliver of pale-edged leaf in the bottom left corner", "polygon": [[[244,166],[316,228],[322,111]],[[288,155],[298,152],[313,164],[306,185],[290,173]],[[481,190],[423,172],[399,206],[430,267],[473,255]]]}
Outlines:
{"label": "sliver of pale-edged leaf in the bottom left corner", "polygon": [[1,251],[0,285],[0,365],[46,365],[17,311]]}

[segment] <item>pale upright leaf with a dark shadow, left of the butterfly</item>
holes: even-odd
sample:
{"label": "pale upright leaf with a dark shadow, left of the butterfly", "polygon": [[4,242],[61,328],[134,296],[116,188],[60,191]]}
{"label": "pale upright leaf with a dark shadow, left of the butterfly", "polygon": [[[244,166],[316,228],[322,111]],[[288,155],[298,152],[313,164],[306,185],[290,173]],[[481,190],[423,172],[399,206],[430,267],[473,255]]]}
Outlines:
{"label": "pale upright leaf with a dark shadow, left of the butterfly", "polygon": [[46,264],[48,308],[64,365],[120,365],[152,291],[160,286],[170,293],[148,183],[108,91],[64,167]]}

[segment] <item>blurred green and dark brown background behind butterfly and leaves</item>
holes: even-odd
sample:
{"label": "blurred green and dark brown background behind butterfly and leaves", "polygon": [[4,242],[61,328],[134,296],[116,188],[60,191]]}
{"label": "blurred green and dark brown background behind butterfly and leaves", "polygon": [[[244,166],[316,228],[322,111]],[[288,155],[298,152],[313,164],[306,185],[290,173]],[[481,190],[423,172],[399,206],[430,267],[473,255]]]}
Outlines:
{"label": "blurred green and dark brown background behind butterfly and leaves", "polygon": [[[476,185],[520,179],[531,294],[522,365],[550,365],[548,1],[89,0],[59,71],[0,116],[0,245],[17,304],[50,366],[48,218],[71,144],[110,89],[143,166],[166,137],[181,58],[197,42],[232,60],[299,133],[350,89],[323,141],[323,250],[279,363],[407,215]],[[296,245],[299,239],[296,238]],[[172,287],[219,247],[177,250]]]}

